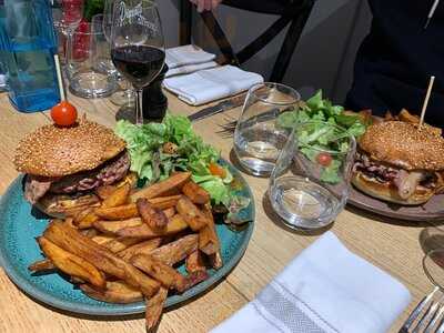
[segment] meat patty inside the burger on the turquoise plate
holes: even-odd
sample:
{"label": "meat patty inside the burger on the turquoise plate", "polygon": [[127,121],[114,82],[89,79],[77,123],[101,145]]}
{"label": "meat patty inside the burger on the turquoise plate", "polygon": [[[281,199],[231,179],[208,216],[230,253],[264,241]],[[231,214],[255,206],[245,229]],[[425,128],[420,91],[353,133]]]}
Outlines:
{"label": "meat patty inside the burger on the turquoise plate", "polygon": [[71,194],[91,191],[101,185],[111,185],[123,179],[129,169],[130,158],[125,151],[113,160],[88,172],[80,172],[59,179],[28,174],[24,183],[24,198],[34,204],[47,192]]}

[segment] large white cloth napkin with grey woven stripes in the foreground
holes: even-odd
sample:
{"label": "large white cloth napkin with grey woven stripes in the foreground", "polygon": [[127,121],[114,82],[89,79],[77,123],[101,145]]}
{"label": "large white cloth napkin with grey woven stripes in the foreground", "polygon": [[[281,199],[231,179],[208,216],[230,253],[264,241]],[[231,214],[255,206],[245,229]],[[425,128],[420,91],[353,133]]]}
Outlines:
{"label": "large white cloth napkin with grey woven stripes in the foreground", "polygon": [[382,333],[410,300],[404,285],[327,232],[212,333]]}

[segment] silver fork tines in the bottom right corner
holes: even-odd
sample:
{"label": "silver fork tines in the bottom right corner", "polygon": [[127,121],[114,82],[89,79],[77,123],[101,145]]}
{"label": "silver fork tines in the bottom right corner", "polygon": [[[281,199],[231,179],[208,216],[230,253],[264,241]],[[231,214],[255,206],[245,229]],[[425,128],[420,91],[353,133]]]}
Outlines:
{"label": "silver fork tines in the bottom right corner", "polygon": [[440,287],[436,286],[421,300],[398,333],[444,333],[444,295],[441,294],[437,301],[434,300],[438,291]]}

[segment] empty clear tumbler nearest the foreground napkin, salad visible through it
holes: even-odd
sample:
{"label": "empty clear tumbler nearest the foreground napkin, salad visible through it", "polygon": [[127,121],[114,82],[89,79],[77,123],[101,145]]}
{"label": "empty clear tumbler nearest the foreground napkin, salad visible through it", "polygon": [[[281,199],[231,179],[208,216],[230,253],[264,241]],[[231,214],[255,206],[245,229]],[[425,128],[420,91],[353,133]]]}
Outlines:
{"label": "empty clear tumbler nearest the foreground napkin, salad visible through it", "polygon": [[293,229],[317,229],[334,221],[350,193],[356,142],[326,122],[299,123],[270,178],[269,198]]}

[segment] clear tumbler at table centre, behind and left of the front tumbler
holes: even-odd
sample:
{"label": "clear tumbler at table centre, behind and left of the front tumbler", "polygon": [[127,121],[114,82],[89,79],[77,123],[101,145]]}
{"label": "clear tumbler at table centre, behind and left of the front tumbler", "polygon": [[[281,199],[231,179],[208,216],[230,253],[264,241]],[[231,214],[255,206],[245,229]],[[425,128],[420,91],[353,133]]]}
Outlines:
{"label": "clear tumbler at table centre, behind and left of the front tumbler", "polygon": [[270,175],[291,129],[279,125],[284,112],[296,112],[301,95],[280,83],[253,85],[234,131],[234,152],[245,171]]}

